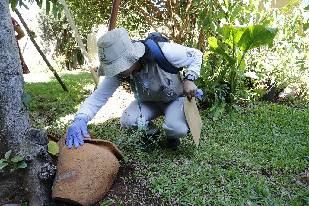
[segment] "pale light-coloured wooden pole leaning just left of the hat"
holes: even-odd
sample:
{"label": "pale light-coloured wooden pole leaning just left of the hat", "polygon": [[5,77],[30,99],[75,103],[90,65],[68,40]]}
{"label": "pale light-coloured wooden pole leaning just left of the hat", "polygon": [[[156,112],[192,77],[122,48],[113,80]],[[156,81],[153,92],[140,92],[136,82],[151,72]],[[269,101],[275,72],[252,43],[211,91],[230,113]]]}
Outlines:
{"label": "pale light-coloured wooden pole leaning just left of the hat", "polygon": [[89,58],[89,56],[87,54],[87,51],[85,49],[84,43],[82,41],[82,38],[80,37],[79,32],[78,32],[78,30],[76,28],[76,25],[75,25],[75,23],[74,23],[74,21],[72,19],[70,10],[68,8],[68,5],[66,4],[66,0],[60,0],[60,3],[64,6],[64,13],[66,14],[66,18],[68,19],[68,22],[69,22],[69,24],[71,26],[71,29],[73,31],[73,34],[74,34],[75,39],[77,41],[77,44],[78,44],[80,50],[82,51],[84,59],[86,60],[86,63],[87,63],[87,66],[88,66],[88,68],[90,70],[92,78],[95,81],[95,85],[98,86],[99,85],[99,79],[98,79],[98,77],[97,77],[97,75],[95,73],[95,70],[94,70],[91,62],[90,62],[90,58]]}

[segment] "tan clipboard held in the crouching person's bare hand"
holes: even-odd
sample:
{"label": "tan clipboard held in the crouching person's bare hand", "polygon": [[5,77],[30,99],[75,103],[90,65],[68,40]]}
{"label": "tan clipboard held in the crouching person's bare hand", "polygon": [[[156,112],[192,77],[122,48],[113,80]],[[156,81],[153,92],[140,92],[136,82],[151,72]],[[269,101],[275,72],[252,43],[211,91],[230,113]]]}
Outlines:
{"label": "tan clipboard held in the crouching person's bare hand", "polygon": [[187,119],[195,146],[198,148],[201,137],[202,120],[194,97],[191,102],[189,102],[187,96],[184,98],[184,116]]}

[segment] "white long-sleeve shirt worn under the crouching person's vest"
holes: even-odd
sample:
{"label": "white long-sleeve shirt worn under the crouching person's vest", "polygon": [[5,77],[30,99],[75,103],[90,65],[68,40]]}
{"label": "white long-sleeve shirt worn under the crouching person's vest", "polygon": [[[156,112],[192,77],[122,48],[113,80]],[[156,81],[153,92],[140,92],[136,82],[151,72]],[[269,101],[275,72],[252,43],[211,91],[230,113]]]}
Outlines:
{"label": "white long-sleeve shirt worn under the crouching person's vest", "polygon": [[[161,49],[167,61],[173,66],[177,68],[187,66],[186,75],[193,75],[195,79],[199,77],[203,56],[200,50],[173,43],[165,43]],[[142,71],[136,73],[140,82],[148,88],[148,68],[143,68]],[[104,78],[97,89],[79,107],[74,119],[84,117],[90,121],[94,118],[121,83],[123,80],[118,77]]]}

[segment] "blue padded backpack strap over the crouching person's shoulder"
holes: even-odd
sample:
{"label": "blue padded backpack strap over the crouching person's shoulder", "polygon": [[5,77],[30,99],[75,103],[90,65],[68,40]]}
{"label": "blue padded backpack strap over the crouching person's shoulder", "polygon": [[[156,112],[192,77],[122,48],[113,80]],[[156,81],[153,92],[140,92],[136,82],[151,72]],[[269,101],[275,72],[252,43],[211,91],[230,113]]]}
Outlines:
{"label": "blue padded backpack strap over the crouching person's shoulder", "polygon": [[[161,39],[161,36],[155,36],[155,37]],[[156,62],[161,67],[161,69],[163,69],[163,71],[166,71],[171,74],[177,74],[180,71],[177,67],[174,67],[170,62],[167,61],[160,46],[156,41],[154,41],[152,38],[149,38],[145,44],[150,48],[151,52],[155,56]]]}

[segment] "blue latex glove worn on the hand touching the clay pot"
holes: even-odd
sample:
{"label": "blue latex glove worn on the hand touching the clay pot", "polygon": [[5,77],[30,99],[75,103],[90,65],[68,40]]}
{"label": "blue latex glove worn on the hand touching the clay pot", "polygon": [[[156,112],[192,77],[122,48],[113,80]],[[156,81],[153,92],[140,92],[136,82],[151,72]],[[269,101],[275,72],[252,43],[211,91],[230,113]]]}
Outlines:
{"label": "blue latex glove worn on the hand touching the clay pot", "polygon": [[[87,134],[87,119],[84,117],[78,117],[76,118],[71,126],[68,129],[68,135],[66,136],[66,146],[69,146],[69,148],[72,148],[73,142],[75,148],[78,148],[79,145],[84,145],[83,136],[85,138],[91,138]],[[83,133],[83,136],[82,136]]]}

